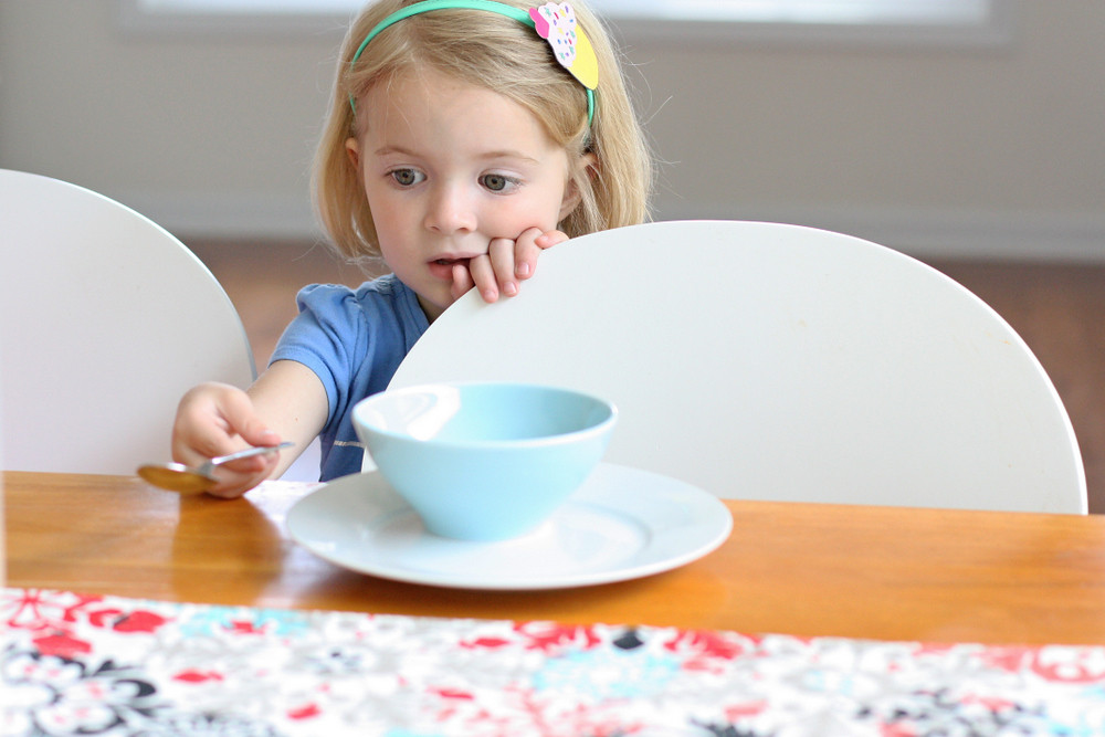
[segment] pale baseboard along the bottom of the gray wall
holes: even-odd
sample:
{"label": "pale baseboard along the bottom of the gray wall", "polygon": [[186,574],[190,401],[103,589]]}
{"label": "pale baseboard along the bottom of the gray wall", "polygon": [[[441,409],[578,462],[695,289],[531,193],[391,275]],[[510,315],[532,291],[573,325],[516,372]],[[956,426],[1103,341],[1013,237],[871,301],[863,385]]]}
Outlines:
{"label": "pale baseboard along the bottom of the gray wall", "polygon": [[[169,197],[131,192],[117,199],[189,239],[317,239],[303,198],[238,193]],[[848,233],[919,259],[1084,261],[1105,263],[1105,212],[965,212],[941,209],[831,209],[669,203],[657,220],[765,220]]]}

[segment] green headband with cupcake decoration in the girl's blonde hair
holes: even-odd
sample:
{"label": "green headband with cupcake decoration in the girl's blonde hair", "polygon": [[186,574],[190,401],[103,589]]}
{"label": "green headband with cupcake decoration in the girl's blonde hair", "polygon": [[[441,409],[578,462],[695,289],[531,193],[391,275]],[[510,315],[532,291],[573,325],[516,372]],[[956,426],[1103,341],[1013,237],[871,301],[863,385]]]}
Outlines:
{"label": "green headband with cupcake decoration in the girl's blonde hair", "polygon": [[[590,40],[577,25],[576,14],[568,2],[560,4],[547,2],[539,8],[530,8],[529,11],[525,11],[495,0],[422,0],[422,2],[415,2],[391,13],[369,31],[365,40],[357,46],[357,53],[349,61],[349,69],[352,69],[365,48],[379,35],[380,31],[411,15],[427,13],[431,10],[486,10],[513,18],[536,30],[538,35],[548,40],[560,65],[579,80],[587,91],[587,125],[591,125],[594,119],[594,88],[599,82],[598,60]],[[349,106],[354,110],[357,109],[351,94],[349,95]]]}

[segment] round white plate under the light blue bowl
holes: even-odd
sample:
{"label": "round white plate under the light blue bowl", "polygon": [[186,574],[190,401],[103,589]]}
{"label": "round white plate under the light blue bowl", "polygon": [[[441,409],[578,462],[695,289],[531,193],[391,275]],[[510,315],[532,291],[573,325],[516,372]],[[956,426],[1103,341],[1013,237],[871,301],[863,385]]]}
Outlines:
{"label": "round white plate under the light blue bowl", "polygon": [[600,463],[550,519],[511,540],[431,535],[379,473],[344,476],[299,499],[287,528],[318,557],[361,573],[465,589],[558,589],[688,564],[729,536],[733,515],[684,482]]}

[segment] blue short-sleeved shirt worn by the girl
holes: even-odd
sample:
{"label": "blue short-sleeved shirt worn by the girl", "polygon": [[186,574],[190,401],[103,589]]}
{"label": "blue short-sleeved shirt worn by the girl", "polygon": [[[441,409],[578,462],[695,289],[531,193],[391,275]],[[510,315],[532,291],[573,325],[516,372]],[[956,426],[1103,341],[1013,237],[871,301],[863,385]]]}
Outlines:
{"label": "blue short-sleeved shirt worn by the girl", "polygon": [[329,402],[322,444],[320,481],[359,473],[365,449],[352,408],[387,388],[399,364],[430,327],[418,296],[394,274],[357,289],[334,284],[304,287],[299,314],[284,330],[272,362],[303,364],[323,382]]}

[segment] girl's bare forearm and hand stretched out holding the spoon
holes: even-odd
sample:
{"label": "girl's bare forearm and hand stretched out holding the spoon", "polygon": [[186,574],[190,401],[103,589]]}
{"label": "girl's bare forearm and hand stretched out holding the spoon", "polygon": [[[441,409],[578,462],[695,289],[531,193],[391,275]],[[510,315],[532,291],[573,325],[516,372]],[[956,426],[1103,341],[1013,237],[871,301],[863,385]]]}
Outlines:
{"label": "girl's bare forearm and hand stretched out holding the spoon", "polygon": [[220,482],[209,493],[241,496],[283,474],[322,430],[326,414],[326,390],[315,373],[295,361],[277,361],[248,391],[203,383],[185,394],[172,428],[172,457],[198,465],[249,445],[293,441],[290,451],[219,467]]}

